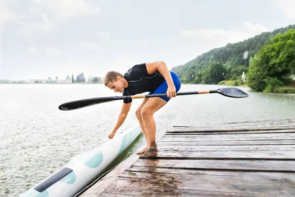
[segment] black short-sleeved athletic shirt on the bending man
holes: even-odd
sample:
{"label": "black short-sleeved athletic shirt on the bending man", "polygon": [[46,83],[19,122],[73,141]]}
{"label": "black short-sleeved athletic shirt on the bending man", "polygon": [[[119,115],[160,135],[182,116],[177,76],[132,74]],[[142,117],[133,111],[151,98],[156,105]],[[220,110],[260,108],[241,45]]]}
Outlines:
{"label": "black short-sleeved athletic shirt on the bending man", "polygon": [[[153,93],[165,78],[156,71],[148,74],[146,63],[131,67],[125,74],[124,78],[128,82],[128,87],[124,88],[123,96],[132,96],[144,92]],[[124,99],[124,103],[132,102],[132,99]]]}

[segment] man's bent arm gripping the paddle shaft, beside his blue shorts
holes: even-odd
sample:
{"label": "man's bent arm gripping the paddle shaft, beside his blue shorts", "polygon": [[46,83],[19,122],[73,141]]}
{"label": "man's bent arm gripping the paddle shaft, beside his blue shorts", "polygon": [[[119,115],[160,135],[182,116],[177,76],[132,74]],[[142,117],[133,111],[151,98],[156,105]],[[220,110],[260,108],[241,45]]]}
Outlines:
{"label": "man's bent arm gripping the paddle shaft, beside his blue shorts", "polygon": [[154,73],[156,71],[159,71],[163,77],[165,78],[168,89],[167,89],[167,97],[176,97],[176,88],[174,86],[170,71],[165,64],[165,62],[159,61],[159,62],[152,62],[152,63],[146,63],[148,74]]}

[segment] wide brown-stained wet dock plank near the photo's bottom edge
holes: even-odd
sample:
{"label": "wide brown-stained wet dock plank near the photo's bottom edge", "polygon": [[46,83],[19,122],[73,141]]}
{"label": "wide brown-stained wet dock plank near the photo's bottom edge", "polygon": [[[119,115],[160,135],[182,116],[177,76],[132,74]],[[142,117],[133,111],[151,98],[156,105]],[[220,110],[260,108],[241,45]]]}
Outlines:
{"label": "wide brown-stained wet dock plank near the photo's bottom edge", "polygon": [[[204,172],[196,170],[169,170],[162,168],[146,168],[145,171],[124,171],[120,177],[105,191],[117,193],[133,192],[145,187],[145,192],[152,194],[158,189],[182,189],[184,191],[207,191],[221,193],[237,193],[249,195],[292,195],[295,192],[295,175],[287,173],[253,173],[253,172]],[[282,193],[283,192],[283,193]],[[147,195],[147,193],[145,194]]]}

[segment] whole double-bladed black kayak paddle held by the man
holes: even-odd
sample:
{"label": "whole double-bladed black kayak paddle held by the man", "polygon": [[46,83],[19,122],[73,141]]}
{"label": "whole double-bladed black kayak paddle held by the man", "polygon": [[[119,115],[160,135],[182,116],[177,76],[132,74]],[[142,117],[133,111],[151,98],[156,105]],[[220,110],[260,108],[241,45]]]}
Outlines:
{"label": "whole double-bladed black kayak paddle held by the man", "polygon": [[[249,95],[244,93],[243,91],[237,88],[220,88],[217,90],[209,90],[209,91],[199,91],[199,92],[183,92],[177,93],[177,96],[180,95],[199,95],[199,94],[210,94],[210,93],[219,93],[226,97],[231,98],[244,98],[248,97]],[[122,100],[122,99],[144,99],[144,98],[151,98],[151,97],[165,97],[167,94],[151,94],[151,95],[134,95],[134,96],[116,96],[116,97],[100,97],[100,98],[92,98],[92,99],[82,99],[82,100],[75,100],[70,102],[65,102],[59,105],[59,109],[63,111],[69,111],[74,109],[79,109],[82,107],[87,107],[94,104],[99,104],[103,102],[110,102],[113,100]]]}

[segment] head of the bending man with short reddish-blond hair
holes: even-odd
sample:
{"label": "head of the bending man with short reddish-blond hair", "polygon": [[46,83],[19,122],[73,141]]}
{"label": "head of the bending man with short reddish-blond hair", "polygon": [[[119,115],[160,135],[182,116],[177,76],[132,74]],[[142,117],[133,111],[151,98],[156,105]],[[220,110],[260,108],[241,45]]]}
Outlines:
{"label": "head of the bending man with short reddish-blond hair", "polygon": [[127,81],[124,76],[117,71],[108,71],[104,77],[104,84],[114,92],[122,93],[126,86]]}

